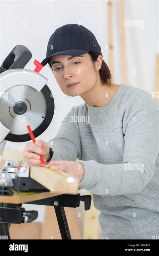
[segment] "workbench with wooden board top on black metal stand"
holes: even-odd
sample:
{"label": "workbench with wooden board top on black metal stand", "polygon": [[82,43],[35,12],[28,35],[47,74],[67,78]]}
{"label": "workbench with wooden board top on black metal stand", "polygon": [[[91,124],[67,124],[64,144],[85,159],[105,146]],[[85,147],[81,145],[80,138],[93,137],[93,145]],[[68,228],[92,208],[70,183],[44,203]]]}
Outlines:
{"label": "workbench with wooden board top on black metal stand", "polygon": [[60,194],[48,192],[18,192],[13,190],[12,196],[0,196],[0,236],[10,239],[9,227],[11,223],[32,222],[38,217],[37,211],[25,211],[22,203],[54,206],[61,238],[71,239],[64,207],[78,207],[80,201],[85,202],[85,210],[91,206],[91,196],[76,194]]}

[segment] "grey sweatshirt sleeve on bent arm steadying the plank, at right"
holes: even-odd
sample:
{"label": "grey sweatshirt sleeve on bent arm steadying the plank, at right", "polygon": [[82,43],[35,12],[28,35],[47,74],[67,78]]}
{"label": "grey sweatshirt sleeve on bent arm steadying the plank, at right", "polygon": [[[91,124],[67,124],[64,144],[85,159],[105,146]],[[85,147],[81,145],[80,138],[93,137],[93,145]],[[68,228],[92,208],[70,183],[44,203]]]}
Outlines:
{"label": "grey sweatshirt sleeve on bent arm steadying the plank, at right", "polygon": [[[95,160],[78,160],[85,168],[83,180],[80,182],[81,188],[104,196],[135,194],[141,192],[152,179],[159,152],[157,109],[144,106],[133,113],[131,111],[124,121],[122,130],[122,163],[101,164]],[[136,165],[140,168],[134,168]]]}

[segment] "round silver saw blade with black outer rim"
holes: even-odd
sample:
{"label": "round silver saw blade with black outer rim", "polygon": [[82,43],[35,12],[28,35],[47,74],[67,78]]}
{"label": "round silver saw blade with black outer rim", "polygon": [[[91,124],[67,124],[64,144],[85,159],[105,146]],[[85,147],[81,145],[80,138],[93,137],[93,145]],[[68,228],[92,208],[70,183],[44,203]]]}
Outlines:
{"label": "round silver saw blade with black outer rim", "polygon": [[[35,137],[42,134],[54,115],[54,99],[51,95],[47,85],[40,92],[26,85],[8,89],[5,92],[6,97],[0,100],[1,122],[10,129],[5,140],[12,142],[31,140],[27,125],[31,126]],[[25,113],[16,113],[14,106],[17,102],[22,102],[27,107]]]}

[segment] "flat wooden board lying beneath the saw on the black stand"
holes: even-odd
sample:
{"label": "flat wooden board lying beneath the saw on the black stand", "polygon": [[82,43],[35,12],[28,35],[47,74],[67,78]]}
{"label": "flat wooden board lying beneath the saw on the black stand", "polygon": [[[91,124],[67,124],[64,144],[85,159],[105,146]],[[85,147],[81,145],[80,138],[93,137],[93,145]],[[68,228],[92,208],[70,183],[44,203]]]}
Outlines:
{"label": "flat wooden board lying beneath the saw on the black stand", "polygon": [[58,196],[61,195],[61,193],[50,193],[48,192],[18,192],[16,190],[13,190],[12,196],[0,196],[0,203],[26,203],[26,202],[32,202],[44,198],[49,198],[52,196]]}

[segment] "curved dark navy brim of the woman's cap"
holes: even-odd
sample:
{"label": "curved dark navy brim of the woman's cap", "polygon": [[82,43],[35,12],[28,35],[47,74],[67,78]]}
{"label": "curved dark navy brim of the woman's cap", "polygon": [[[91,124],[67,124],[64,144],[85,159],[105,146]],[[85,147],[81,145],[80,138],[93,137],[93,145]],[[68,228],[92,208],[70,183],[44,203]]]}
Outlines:
{"label": "curved dark navy brim of the woman's cap", "polygon": [[78,55],[86,54],[86,53],[88,53],[89,51],[90,51],[90,50],[85,50],[85,49],[71,49],[71,50],[64,50],[64,51],[56,52],[56,53],[53,53],[53,54],[49,55],[48,57],[46,57],[46,58],[41,62],[41,64],[45,66],[45,65],[49,62],[49,59],[50,59],[52,56],[55,56],[55,55],[74,55],[74,56],[78,56]]}

